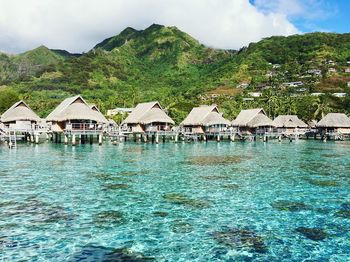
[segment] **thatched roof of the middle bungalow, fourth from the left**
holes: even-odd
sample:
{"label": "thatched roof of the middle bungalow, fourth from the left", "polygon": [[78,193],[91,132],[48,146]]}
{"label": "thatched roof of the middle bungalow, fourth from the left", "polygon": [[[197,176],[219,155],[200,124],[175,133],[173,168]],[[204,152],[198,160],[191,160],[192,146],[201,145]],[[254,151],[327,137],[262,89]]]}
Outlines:
{"label": "thatched roof of the middle bungalow, fourth from the left", "polygon": [[229,125],[215,105],[194,107],[188,116],[182,121],[183,126],[211,126]]}

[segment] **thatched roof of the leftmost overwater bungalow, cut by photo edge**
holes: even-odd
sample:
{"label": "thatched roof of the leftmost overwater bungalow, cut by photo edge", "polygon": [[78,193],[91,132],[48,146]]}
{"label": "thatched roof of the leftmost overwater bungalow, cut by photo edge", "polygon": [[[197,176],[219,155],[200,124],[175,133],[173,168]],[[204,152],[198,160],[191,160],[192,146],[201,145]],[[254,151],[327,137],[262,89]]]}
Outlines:
{"label": "thatched roof of the leftmost overwater bungalow, cut by photo edge", "polygon": [[39,122],[40,117],[33,112],[32,109],[24,102],[18,101],[11,106],[1,116],[1,122],[14,122],[14,121],[34,121]]}

